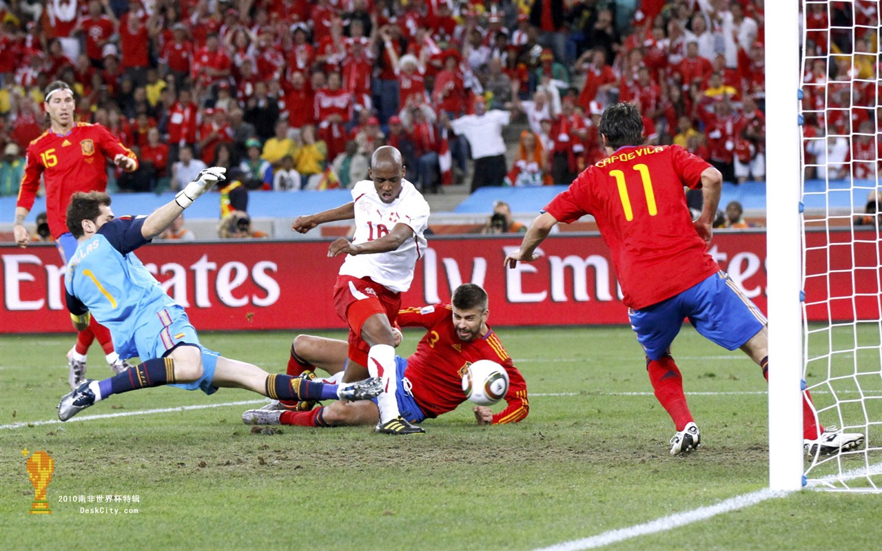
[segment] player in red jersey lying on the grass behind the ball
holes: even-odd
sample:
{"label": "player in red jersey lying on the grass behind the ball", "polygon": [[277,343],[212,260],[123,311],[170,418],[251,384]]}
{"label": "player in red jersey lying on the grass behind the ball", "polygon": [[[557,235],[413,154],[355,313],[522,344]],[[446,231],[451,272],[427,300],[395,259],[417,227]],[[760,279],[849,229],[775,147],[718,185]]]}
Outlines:
{"label": "player in red jersey lying on the grass behind the ball", "polygon": [[[395,357],[400,385],[395,398],[401,415],[419,423],[455,409],[466,397],[462,375],[470,363],[496,361],[508,372],[509,388],[505,409],[494,414],[490,407],[474,406],[480,425],[521,421],[529,413],[527,383],[512,364],[497,334],[487,324],[490,315],[487,293],[473,283],[457,287],[451,304],[403,309],[398,314],[402,327],[422,327],[426,334],[408,358]],[[346,363],[347,344],[342,340],[298,335],[291,346],[288,375],[297,376],[321,368],[335,375]],[[372,425],[379,420],[374,401],[334,402],[330,406],[304,406],[303,402],[273,402],[242,415],[245,423],[336,427]]]}

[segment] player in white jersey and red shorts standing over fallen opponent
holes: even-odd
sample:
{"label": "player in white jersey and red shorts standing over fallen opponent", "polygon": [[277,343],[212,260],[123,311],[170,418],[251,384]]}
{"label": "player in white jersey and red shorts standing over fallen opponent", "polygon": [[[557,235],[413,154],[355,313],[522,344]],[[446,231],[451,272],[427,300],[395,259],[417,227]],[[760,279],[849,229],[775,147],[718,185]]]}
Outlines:
{"label": "player in white jersey and red shorts standing over fallen opponent", "polygon": [[396,148],[384,145],[370,158],[370,180],[355,184],[353,200],[337,208],[299,216],[291,229],[305,234],[325,222],[355,219],[352,242],[340,237],[328,257],[348,255],[334,286],[334,307],[349,325],[348,365],[343,380],[370,373],[383,380],[377,398],[377,432],[419,434],[424,430],[401,417],[395,391],[395,339],[401,293],[410,288],[416,261],[426,249],[423,236],[429,204],[414,184],[404,179],[404,162]]}

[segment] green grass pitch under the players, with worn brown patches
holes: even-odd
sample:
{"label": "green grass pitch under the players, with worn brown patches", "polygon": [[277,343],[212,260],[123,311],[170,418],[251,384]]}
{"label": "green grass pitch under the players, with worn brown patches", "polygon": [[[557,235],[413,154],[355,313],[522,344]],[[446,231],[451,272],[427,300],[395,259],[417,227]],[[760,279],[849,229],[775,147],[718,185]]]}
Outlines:
{"label": "green grass pitch under the players, with worn brown patches", "polygon": [[[497,332],[527,378],[530,414],[516,425],[478,427],[464,405],[426,421],[425,436],[366,427],[255,434],[240,415],[262,397],[163,388],[81,413],[127,416],[0,428],[0,547],[528,550],[766,487],[766,382],[743,354],[684,327],[674,354],[686,391],[699,392],[689,399],[703,447],[674,458],[674,429],[629,328]],[[202,338],[281,372],[294,334]],[[400,354],[420,336],[407,331]],[[0,337],[0,425],[56,419],[71,339]],[[95,346],[89,376],[109,375],[99,358]],[[141,413],[242,401],[254,403]],[[54,458],[51,515],[28,514],[24,450]],[[98,495],[129,502],[78,502]],[[119,514],[81,512],[101,506]],[[882,540],[878,511],[878,495],[804,491],[608,548],[870,549]]]}

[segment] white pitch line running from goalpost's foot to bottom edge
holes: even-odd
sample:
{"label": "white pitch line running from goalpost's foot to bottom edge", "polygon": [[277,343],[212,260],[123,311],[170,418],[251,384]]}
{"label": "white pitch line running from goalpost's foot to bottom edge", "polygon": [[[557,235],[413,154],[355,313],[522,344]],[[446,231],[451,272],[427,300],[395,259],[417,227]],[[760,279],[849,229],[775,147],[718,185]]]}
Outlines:
{"label": "white pitch line running from goalpost's foot to bottom edge", "polygon": [[550,547],[542,547],[535,551],[580,551],[581,549],[595,549],[597,547],[608,546],[611,543],[619,541],[631,540],[638,536],[646,536],[657,532],[667,532],[674,528],[684,525],[691,525],[699,520],[716,517],[722,513],[728,513],[733,510],[744,509],[751,505],[756,505],[773,497],[784,497],[790,492],[775,491],[769,488],[761,489],[751,494],[736,495],[716,505],[707,507],[699,507],[699,509],[688,510],[683,513],[676,513],[667,517],[657,518],[642,525],[629,526],[627,528],[619,528],[610,530],[609,532],[599,533],[596,536],[585,538],[582,540],[564,541]]}

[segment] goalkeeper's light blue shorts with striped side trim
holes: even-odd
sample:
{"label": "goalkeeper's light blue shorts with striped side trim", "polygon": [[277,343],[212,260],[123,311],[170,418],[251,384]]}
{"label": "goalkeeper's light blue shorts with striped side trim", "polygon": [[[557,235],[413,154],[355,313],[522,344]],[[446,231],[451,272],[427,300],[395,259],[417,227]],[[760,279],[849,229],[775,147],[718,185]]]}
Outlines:
{"label": "goalkeeper's light blue shorts with striped side trim", "polygon": [[214,369],[220,354],[202,346],[196,328],[190,323],[187,313],[177,304],[156,312],[153,319],[135,331],[135,343],[141,361],[150,358],[164,358],[176,346],[198,346],[202,351],[202,376],[190,383],[173,383],[187,391],[203,391],[213,394],[218,389],[212,386]]}

